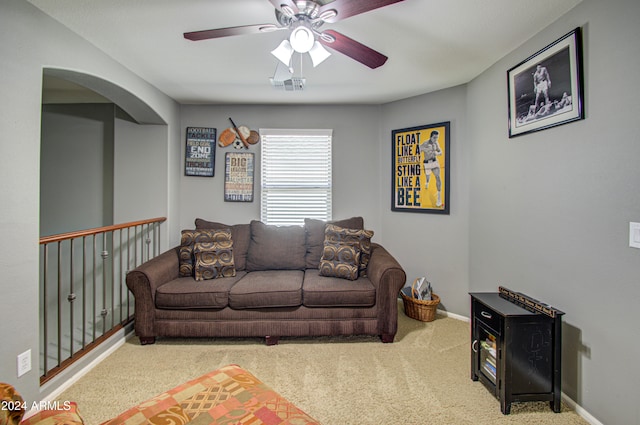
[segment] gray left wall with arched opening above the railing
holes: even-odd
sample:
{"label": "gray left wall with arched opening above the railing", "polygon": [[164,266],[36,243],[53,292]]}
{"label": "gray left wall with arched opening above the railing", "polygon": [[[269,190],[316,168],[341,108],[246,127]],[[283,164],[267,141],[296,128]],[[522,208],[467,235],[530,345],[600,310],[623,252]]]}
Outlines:
{"label": "gray left wall with arched opening above the railing", "polygon": [[[112,94],[135,96],[134,105],[140,109],[128,112],[137,115],[145,108],[153,109],[167,123],[165,139],[158,143],[167,158],[172,154],[179,155],[179,110],[173,100],[28,2],[2,0],[0,310],[5,320],[0,325],[0,340],[3,341],[0,344],[0,382],[16,385],[29,403],[42,397],[37,367],[38,267],[34,264],[38,258],[40,123],[42,79],[46,68],[100,76],[121,88]],[[178,180],[178,161],[159,166],[167,170],[168,181]],[[163,212],[175,216],[176,183],[164,181],[160,184],[166,193]],[[167,223],[166,226],[177,229],[177,224]],[[16,357],[29,349],[32,370],[18,378]]]}

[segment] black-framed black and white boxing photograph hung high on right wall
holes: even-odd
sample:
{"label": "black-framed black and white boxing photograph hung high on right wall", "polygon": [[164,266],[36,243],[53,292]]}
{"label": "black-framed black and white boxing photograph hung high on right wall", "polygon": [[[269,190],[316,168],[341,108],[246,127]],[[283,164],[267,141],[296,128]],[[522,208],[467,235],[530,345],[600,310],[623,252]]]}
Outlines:
{"label": "black-framed black and white boxing photograph hung high on right wall", "polygon": [[507,71],[509,137],[584,119],[580,28]]}

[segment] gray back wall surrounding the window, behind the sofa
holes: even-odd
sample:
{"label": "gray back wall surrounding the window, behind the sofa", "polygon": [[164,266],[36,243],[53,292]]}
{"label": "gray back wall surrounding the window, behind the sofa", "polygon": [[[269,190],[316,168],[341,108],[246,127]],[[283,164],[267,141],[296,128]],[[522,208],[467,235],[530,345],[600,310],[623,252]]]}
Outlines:
{"label": "gray back wall surrounding the window, behind the sofa", "polygon": [[[379,216],[378,106],[182,106],[180,224],[193,228],[200,217],[227,224],[260,219],[260,167],[256,167],[254,202],[224,202],[224,154],[216,149],[213,178],[184,176],[184,134],[187,127],[215,127],[218,134],[231,124],[260,128],[333,129],[333,217],[364,217],[365,226],[381,231]],[[252,146],[260,163],[260,144]]]}

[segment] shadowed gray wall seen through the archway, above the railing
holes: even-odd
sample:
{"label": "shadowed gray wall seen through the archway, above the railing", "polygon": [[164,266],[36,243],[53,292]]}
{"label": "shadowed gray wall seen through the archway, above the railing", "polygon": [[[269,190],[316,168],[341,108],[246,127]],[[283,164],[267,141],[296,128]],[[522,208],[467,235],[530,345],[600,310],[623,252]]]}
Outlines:
{"label": "shadowed gray wall seen through the archway, above the railing", "polygon": [[43,105],[40,235],[113,224],[113,104]]}

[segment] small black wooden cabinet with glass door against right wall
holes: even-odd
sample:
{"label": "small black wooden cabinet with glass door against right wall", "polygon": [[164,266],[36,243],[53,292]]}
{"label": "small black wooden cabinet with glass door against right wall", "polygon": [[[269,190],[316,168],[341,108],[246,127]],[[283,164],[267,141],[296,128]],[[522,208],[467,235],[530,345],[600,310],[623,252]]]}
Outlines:
{"label": "small black wooden cabinet with glass door against right wall", "polygon": [[500,400],[549,401],[560,412],[562,312],[554,317],[497,292],[471,295],[471,379]]}

